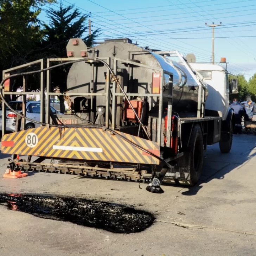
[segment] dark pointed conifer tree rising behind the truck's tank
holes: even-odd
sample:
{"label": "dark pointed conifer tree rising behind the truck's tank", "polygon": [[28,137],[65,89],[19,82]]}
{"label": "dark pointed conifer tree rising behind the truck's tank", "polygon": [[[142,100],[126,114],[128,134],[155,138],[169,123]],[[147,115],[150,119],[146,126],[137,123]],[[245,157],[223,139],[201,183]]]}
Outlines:
{"label": "dark pointed conifer tree rising behind the truck's tank", "polygon": [[[73,5],[64,7],[60,2],[59,9],[50,8],[47,11],[47,17],[50,19],[49,25],[44,25],[44,38],[41,43],[44,57],[46,58],[65,58],[66,45],[70,38],[82,38],[90,47],[95,38],[98,36],[100,30],[95,30],[91,36],[84,36],[88,30],[86,25],[89,14],[82,14]],[[57,63],[56,63],[57,64]],[[66,90],[66,80],[68,76],[69,67],[57,68],[51,71],[51,85],[52,90]],[[59,96],[60,111],[63,113],[64,97]]]}

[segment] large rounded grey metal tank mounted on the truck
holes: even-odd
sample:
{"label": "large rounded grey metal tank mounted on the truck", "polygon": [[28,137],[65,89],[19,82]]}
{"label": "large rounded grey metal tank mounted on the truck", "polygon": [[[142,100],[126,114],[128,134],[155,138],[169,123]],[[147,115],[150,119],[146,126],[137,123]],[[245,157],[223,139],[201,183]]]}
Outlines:
{"label": "large rounded grey metal tank mounted on the truck", "polygon": [[[68,51],[68,48],[67,48]],[[94,55],[95,54],[95,55]],[[162,68],[173,73],[173,109],[175,111],[196,112],[198,102],[198,84],[191,76],[186,66],[182,63],[171,61],[153,51],[145,50],[129,39],[106,40],[105,43],[95,46],[88,51],[88,57],[111,58],[113,69],[113,58],[133,59],[135,65],[128,68],[127,64],[118,62],[118,76],[124,91],[130,93],[145,93],[152,91],[153,70],[136,66],[136,62],[152,67]],[[104,92],[105,67],[94,67],[94,92]],[[183,77],[180,74],[184,75]],[[72,65],[67,80],[68,92],[89,92],[92,76],[92,65],[79,62]],[[186,77],[186,83],[185,82]],[[168,93],[169,77],[165,76],[164,93]],[[71,97],[74,101],[76,97]],[[87,97],[89,99],[89,97]],[[154,107],[155,103],[152,103]],[[167,104],[167,101],[164,104]],[[105,105],[104,96],[97,96],[96,105]]]}

